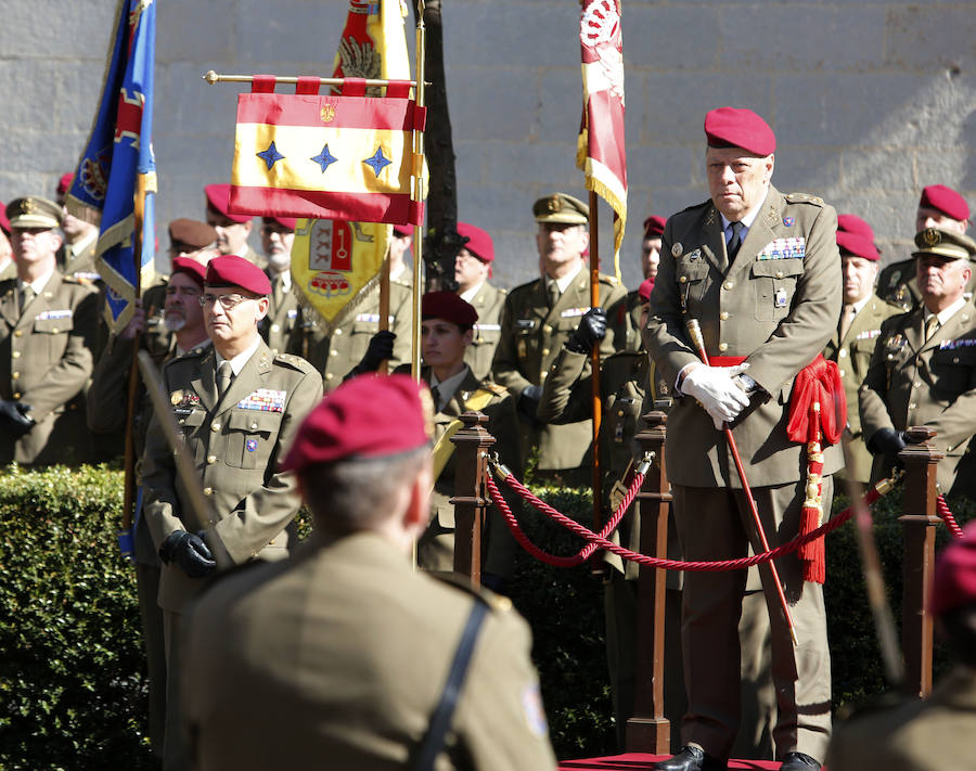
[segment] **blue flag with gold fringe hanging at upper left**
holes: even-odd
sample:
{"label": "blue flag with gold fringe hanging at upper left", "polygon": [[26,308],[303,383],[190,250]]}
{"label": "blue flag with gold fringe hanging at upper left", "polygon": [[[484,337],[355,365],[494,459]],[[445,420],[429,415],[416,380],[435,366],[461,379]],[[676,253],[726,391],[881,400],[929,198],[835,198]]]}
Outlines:
{"label": "blue flag with gold fringe hanging at upper left", "polygon": [[137,286],[152,275],[155,256],[155,0],[120,0],[115,26],[99,112],[65,197],[76,217],[101,222],[95,262],[117,332],[131,318]]}

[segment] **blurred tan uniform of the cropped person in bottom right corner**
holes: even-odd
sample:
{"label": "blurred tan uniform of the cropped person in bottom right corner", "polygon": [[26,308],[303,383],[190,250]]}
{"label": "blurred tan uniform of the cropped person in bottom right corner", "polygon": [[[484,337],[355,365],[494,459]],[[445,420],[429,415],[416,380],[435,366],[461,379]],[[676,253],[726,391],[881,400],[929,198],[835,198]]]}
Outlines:
{"label": "blurred tan uniform of the cropped person in bottom right corner", "polygon": [[958,666],[928,698],[845,722],[826,762],[831,771],[972,769],[974,731],[976,671]]}

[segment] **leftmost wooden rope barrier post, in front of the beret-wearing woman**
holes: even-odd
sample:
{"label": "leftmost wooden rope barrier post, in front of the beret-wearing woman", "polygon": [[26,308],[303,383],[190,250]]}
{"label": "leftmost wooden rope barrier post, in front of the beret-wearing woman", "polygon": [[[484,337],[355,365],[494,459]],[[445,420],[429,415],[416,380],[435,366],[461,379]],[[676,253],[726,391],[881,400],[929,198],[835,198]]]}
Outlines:
{"label": "leftmost wooden rope barrier post, in front of the beret-wearing woman", "polygon": [[485,472],[488,468],[488,448],[495,437],[485,427],[488,415],[467,411],[461,415],[459,428],[451,441],[457,447],[454,463],[454,573],[466,576],[474,586],[481,583],[481,531],[485,526],[488,498],[485,494]]}

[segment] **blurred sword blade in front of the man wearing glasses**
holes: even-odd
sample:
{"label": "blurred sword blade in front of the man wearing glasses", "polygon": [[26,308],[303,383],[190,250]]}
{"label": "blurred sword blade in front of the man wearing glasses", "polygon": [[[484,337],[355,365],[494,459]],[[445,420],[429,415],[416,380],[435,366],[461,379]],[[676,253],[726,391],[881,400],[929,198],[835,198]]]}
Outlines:
{"label": "blurred sword blade in front of the man wearing glasses", "polygon": [[[183,483],[187,494],[190,497],[189,511],[180,511],[180,518],[188,529],[197,532],[207,529],[208,525],[214,524],[211,516],[211,507],[207,499],[203,494],[203,484],[196,467],[187,454],[187,442],[183,441],[182,434],[177,425],[176,417],[172,416],[172,406],[166,399],[166,388],[163,385],[163,378],[156,371],[152,357],[144,350],[139,351],[139,369],[142,372],[142,382],[153,402],[153,412],[163,427],[163,435],[166,437],[166,444],[172,450],[174,462],[176,463],[177,476]],[[218,538],[207,541],[217,568],[220,570],[233,567],[234,562],[230,554]],[[216,547],[216,548],[215,548]]]}

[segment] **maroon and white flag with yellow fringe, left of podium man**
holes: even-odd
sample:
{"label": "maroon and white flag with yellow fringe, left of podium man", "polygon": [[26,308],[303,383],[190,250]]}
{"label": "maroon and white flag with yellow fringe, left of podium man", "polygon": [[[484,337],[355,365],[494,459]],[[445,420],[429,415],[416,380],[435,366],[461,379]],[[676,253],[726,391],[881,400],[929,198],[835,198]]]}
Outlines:
{"label": "maroon and white flag with yellow fringe, left of podium man", "polygon": [[619,0],[587,0],[579,20],[583,114],[576,165],[587,190],[614,209],[614,269],[627,224],[627,145],[624,140],[624,37]]}

